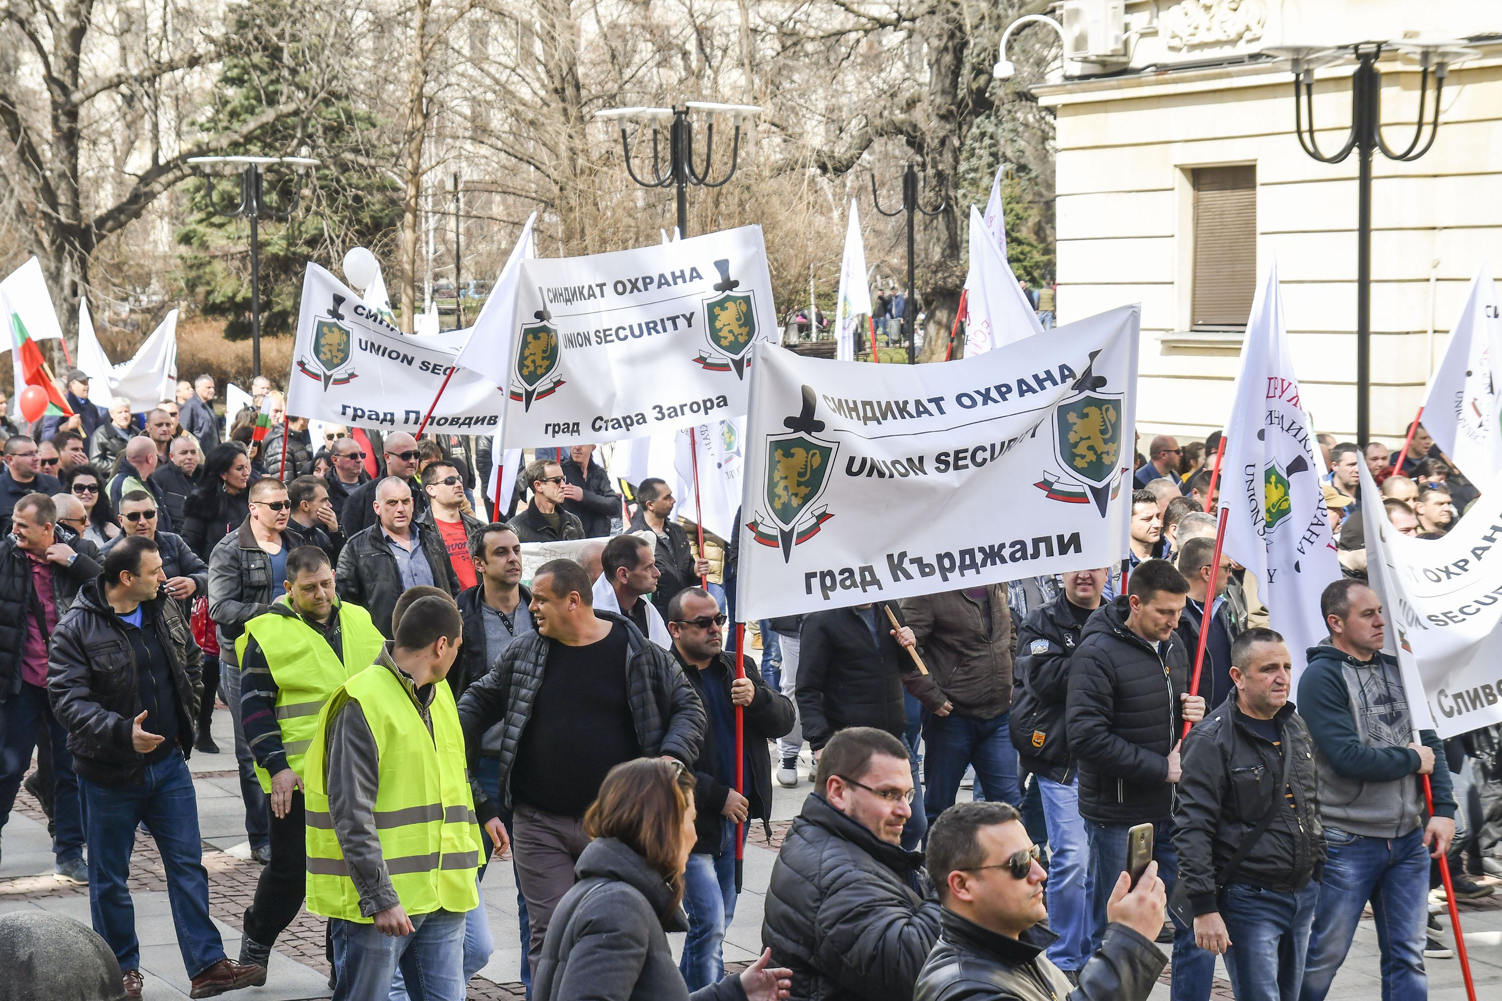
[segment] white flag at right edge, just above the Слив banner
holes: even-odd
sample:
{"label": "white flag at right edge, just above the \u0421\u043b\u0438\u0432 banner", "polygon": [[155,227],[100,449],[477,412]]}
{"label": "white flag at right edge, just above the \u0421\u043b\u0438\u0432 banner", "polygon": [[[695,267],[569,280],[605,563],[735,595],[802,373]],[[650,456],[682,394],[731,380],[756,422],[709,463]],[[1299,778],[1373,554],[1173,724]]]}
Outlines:
{"label": "white flag at right edge, just above the \u0421\u043b\u0438\u0432 banner", "polygon": [[1424,393],[1424,428],[1473,483],[1502,470],[1502,317],[1497,290],[1482,263],[1466,290],[1466,305]]}

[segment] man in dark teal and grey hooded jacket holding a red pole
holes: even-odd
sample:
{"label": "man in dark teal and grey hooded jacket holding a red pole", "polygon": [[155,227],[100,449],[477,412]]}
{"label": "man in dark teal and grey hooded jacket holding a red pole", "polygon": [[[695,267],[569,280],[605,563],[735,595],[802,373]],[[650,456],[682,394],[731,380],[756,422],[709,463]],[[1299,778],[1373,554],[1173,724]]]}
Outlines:
{"label": "man in dark teal and grey hooded jacket holding a red pole", "polygon": [[[1365,584],[1344,578],[1325,588],[1320,614],[1329,642],[1310,650],[1299,678],[1299,711],[1314,738],[1320,821],[1328,861],[1314,909],[1301,1001],[1323,1001],[1367,902],[1382,951],[1382,998],[1428,993],[1424,924],[1428,857],[1455,836],[1455,797],[1445,750],[1434,731],[1415,741],[1413,717],[1397,660],[1382,651],[1382,602]],[[1425,821],[1430,776],[1434,813]]]}

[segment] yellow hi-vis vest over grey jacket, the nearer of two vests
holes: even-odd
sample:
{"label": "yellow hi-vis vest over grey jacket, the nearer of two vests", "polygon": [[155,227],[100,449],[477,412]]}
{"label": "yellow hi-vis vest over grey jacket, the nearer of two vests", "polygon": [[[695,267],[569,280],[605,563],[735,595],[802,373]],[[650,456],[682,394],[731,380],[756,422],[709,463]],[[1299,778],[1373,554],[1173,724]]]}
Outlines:
{"label": "yellow hi-vis vest over grey jacket, the nearer of two vests", "polygon": [[434,684],[433,732],[412,696],[385,665],[374,665],[335,692],[318,714],[305,759],[308,909],[323,917],[369,923],[350,879],[329,815],[327,719],[345,702],[360,704],[376,737],[379,789],[376,833],[392,887],[407,914],[464,912],[479,905],[475,876],[481,837],[464,767],[464,734],[454,692]]}

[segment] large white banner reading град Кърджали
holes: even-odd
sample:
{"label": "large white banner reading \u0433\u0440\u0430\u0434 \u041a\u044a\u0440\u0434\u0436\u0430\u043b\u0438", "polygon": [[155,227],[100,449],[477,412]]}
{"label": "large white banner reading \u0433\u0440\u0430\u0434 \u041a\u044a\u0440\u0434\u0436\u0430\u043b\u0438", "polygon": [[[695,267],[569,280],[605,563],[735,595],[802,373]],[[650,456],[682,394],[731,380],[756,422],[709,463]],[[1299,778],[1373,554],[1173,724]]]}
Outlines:
{"label": "large white banner reading \u0433\u0440\u0430\u0434 \u041a\u044a\u0440\u0434\u0436\u0430\u043b\u0438", "polygon": [[862,365],[759,345],[746,621],[1114,564],[1139,308],[975,359]]}

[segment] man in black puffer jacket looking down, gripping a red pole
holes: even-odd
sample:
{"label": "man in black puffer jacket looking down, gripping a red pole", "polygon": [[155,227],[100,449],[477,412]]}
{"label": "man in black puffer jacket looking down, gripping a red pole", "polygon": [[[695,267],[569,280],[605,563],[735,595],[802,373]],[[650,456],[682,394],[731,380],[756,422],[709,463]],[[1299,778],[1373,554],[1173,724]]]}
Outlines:
{"label": "man in black puffer jacket looking down, gripping a red pole", "polygon": [[[1105,905],[1126,867],[1126,831],[1154,825],[1154,858],[1169,893],[1178,876],[1173,785],[1179,780],[1184,720],[1205,717],[1205,699],[1187,692],[1190,657],[1175,632],[1190,585],[1167,560],[1143,560],[1126,594],[1084,624],[1069,665],[1065,725],[1080,764],[1080,815],[1090,842],[1093,935],[1105,935]],[[1209,998],[1215,956],[1194,945],[1194,929],[1175,917],[1173,998]]]}

